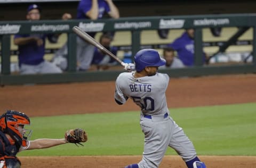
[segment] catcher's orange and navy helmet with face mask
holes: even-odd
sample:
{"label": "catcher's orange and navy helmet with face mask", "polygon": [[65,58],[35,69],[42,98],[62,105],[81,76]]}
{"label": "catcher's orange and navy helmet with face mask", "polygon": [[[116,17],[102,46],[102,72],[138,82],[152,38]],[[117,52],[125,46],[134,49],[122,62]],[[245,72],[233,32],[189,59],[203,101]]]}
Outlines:
{"label": "catcher's orange and navy helmet with face mask", "polygon": [[[24,113],[7,110],[6,113],[0,116],[1,130],[8,133],[15,142],[22,146],[27,146],[27,138],[31,134],[31,130],[23,128],[25,125],[30,125],[30,120]],[[22,130],[19,130],[19,126],[22,126]]]}

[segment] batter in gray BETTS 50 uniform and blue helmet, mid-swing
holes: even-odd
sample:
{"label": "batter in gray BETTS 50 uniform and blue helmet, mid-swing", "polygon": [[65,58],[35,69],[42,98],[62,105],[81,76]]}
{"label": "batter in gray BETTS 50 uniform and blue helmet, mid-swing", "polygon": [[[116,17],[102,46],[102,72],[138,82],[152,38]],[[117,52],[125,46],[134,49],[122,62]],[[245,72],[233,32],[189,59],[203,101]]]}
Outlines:
{"label": "batter in gray BETTS 50 uniform and blue helmet, mid-swing", "polygon": [[155,49],[142,49],[135,55],[134,63],[134,72],[123,72],[117,77],[115,100],[122,105],[131,98],[140,106],[145,143],[142,160],[126,168],[158,167],[168,146],[182,157],[188,168],[206,167],[197,157],[192,142],[169,115],[165,97],[169,76],[157,73],[165,60]]}

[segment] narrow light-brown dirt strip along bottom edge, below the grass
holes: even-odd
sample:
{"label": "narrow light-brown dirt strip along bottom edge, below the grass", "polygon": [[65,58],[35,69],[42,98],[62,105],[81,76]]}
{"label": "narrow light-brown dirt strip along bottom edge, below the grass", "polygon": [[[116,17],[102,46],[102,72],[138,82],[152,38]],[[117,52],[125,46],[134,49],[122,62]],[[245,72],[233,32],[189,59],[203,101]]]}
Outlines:
{"label": "narrow light-brown dirt strip along bottom edge, below the grass", "polygon": [[[20,157],[22,167],[124,168],[138,163],[141,156],[56,156]],[[200,156],[207,168],[255,168],[256,156]],[[159,168],[186,168],[179,156],[164,156]]]}

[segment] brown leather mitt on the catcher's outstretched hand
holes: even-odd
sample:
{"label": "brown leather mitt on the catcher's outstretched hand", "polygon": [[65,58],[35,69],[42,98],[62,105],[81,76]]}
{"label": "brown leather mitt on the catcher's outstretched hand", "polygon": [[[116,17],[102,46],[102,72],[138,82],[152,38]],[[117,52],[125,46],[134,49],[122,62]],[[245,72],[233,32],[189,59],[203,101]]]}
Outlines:
{"label": "brown leather mitt on the catcher's outstretched hand", "polygon": [[83,129],[76,128],[76,129],[66,131],[65,139],[69,143],[76,144],[76,146],[77,146],[77,144],[84,146],[80,142],[86,142],[87,141],[87,134]]}

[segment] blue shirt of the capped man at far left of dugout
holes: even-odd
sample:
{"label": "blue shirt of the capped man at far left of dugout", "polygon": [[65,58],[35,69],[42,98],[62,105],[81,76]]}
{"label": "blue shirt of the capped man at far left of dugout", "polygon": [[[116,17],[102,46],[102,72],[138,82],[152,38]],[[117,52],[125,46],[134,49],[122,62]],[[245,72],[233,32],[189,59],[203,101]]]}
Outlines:
{"label": "blue shirt of the capped man at far left of dugout", "polygon": [[[53,35],[45,35],[45,34],[33,34],[33,35],[15,35],[15,38],[19,37],[37,37],[43,40],[43,44],[38,46],[36,41],[25,45],[19,45],[18,50],[18,58],[19,65],[20,64],[29,64],[29,65],[37,65],[44,61],[44,50],[45,50],[45,38],[48,37],[49,40]],[[55,41],[51,41],[55,42]]]}

